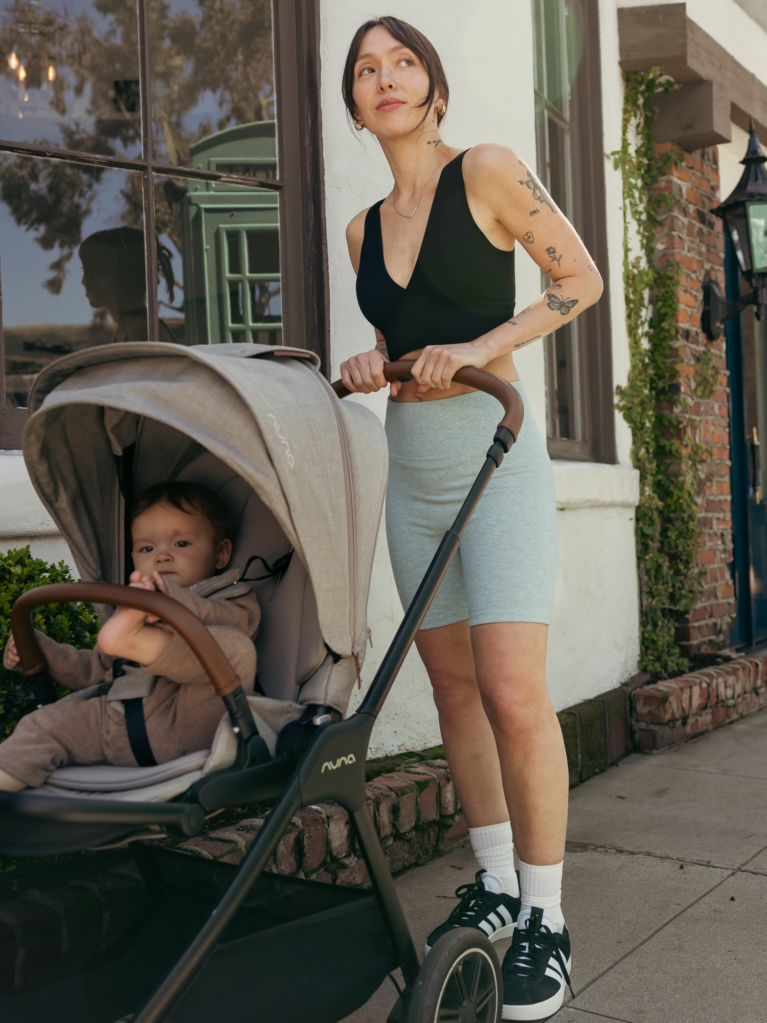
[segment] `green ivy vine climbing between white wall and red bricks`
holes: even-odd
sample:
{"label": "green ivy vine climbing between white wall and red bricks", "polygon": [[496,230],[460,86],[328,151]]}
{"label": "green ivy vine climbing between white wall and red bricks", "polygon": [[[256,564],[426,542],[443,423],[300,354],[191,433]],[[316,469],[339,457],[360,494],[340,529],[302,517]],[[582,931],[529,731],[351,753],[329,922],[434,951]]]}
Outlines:
{"label": "green ivy vine climbing between white wall and red bricks", "polygon": [[[680,265],[663,263],[657,231],[674,202],[657,186],[681,162],[675,151],[657,151],[651,125],[653,96],[676,85],[660,68],[626,72],[621,149],[612,153],[623,175],[626,323],[630,368],[618,388],[618,409],[631,427],[632,460],[640,473],[636,509],[639,568],[639,666],[662,677],[683,673],[689,662],[675,641],[701,593],[705,569],[697,552],[702,529],[695,497],[698,470],[708,457],[682,395],[682,362],[676,347]],[[697,397],[711,397],[717,381],[713,355],[695,366]]]}

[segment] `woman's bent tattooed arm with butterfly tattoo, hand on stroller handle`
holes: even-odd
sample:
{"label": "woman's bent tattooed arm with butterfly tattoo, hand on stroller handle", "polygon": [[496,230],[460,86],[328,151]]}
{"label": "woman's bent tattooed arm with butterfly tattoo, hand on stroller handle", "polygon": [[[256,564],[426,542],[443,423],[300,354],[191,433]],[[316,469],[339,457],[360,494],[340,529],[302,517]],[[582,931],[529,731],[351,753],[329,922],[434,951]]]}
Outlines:
{"label": "woman's bent tattooed arm with butterfly tattoo, hand on stroller handle", "polygon": [[599,271],[575,228],[516,153],[502,145],[475,146],[464,157],[463,179],[471,215],[486,237],[506,251],[518,241],[552,283],[527,309],[469,344],[425,348],[413,367],[419,391],[446,390],[461,366],[505,373],[504,356],[569,323],[602,292]]}

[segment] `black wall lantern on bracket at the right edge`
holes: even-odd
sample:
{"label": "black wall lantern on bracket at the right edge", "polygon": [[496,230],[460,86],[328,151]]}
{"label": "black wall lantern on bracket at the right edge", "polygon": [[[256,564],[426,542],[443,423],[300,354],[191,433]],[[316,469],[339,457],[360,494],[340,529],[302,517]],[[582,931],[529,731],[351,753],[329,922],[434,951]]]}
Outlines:
{"label": "black wall lantern on bracket at the right edge", "polygon": [[711,212],[722,217],[732,238],[737,262],[752,291],[736,302],[728,302],[715,280],[704,282],[702,326],[709,341],[721,332],[721,324],[754,305],[757,319],[764,319],[767,309],[767,157],[757,138],[751,119],[751,138],[742,177],[721,206]]}

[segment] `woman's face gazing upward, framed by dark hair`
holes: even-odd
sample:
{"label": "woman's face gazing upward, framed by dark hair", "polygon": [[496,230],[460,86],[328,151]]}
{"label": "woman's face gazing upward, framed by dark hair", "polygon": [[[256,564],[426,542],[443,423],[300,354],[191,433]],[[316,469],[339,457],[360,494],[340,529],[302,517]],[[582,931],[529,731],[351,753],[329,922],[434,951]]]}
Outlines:
{"label": "woman's face gazing upward, framed by dark hair", "polygon": [[[428,95],[428,73],[407,46],[377,26],[365,33],[354,65],[352,89],[357,120],[378,138],[395,138],[421,125]],[[436,97],[423,129],[437,128]]]}

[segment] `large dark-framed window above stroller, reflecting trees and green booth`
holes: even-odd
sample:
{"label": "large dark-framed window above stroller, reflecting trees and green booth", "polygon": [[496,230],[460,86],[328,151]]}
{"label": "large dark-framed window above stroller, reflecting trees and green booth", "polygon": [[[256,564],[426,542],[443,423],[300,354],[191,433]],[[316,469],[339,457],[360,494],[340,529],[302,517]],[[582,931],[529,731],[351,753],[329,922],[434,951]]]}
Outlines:
{"label": "large dark-framed window above stroller, reflecting trees and green booth", "polygon": [[36,373],[94,345],[327,363],[315,6],[2,0],[2,447]]}

